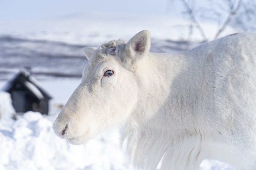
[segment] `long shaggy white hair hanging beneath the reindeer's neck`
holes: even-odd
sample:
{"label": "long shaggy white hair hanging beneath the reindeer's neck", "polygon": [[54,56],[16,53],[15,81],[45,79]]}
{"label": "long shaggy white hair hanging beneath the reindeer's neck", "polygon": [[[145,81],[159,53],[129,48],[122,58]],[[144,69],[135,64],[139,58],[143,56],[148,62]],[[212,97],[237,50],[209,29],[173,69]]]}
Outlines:
{"label": "long shaggy white hair hanging beneath the reindeer's neck", "polygon": [[[197,167],[197,163],[201,161],[201,133],[193,134],[191,138],[178,140],[173,136],[162,131],[151,129],[145,130],[145,127],[127,124],[120,138],[120,145],[126,144],[130,161],[136,168],[143,170],[153,170],[160,168],[161,170],[169,169],[169,167],[180,167],[188,169],[189,167]],[[189,143],[198,142],[191,150]],[[177,148],[184,148],[177,150]],[[190,152],[187,152],[191,150]],[[182,156],[180,156],[182,155]],[[173,160],[173,161],[170,161]],[[190,160],[194,160],[191,161]],[[184,164],[178,164],[184,162]]]}

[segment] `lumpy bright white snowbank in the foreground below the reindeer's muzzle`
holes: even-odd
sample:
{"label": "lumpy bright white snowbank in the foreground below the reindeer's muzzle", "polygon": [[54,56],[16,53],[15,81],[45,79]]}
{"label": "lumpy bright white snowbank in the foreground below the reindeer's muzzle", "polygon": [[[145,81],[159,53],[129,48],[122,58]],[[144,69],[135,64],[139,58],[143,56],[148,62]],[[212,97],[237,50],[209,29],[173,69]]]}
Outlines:
{"label": "lumpy bright white snowbank in the foreground below the reindeer's muzzle", "polygon": [[54,134],[49,118],[38,112],[27,112],[10,130],[0,129],[1,170],[131,169],[118,147],[117,130],[108,137],[74,146]]}

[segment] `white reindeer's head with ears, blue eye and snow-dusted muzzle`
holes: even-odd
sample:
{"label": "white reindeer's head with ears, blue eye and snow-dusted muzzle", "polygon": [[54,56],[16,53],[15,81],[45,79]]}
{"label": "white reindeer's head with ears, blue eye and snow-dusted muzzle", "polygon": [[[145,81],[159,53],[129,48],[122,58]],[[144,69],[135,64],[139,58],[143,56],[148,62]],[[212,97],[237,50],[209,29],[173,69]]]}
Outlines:
{"label": "white reindeer's head with ears, blue eye and snow-dusted muzzle", "polygon": [[78,145],[129,119],[138,100],[137,67],[149,49],[148,31],[137,33],[128,43],[115,40],[99,48],[85,47],[88,65],[53,124],[54,132]]}

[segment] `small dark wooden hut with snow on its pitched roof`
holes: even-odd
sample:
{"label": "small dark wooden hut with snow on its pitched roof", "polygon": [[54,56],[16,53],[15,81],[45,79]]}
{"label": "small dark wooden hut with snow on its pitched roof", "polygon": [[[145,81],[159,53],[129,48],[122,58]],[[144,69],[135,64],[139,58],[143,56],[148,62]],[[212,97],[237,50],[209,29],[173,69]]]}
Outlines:
{"label": "small dark wooden hut with snow on its pitched roof", "polygon": [[29,71],[22,70],[16,74],[2,90],[11,94],[17,113],[35,111],[48,114],[49,100],[52,97],[39,86]]}

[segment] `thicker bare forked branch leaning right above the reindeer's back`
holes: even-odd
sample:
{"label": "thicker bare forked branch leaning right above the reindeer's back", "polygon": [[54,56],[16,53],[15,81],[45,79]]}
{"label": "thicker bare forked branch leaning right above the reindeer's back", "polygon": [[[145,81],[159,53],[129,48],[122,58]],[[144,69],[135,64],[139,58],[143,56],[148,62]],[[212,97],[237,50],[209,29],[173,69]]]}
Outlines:
{"label": "thicker bare forked branch leaning right above the reindeer's back", "polygon": [[234,9],[234,4],[231,2],[231,0],[227,0],[227,1],[228,1],[228,4],[229,4],[229,7],[230,7],[230,14],[229,14],[228,18],[226,19],[226,21],[223,23],[222,27],[216,33],[214,39],[217,39],[219,37],[220,33],[226,29],[227,25],[231,21],[231,18],[237,13],[237,11],[240,8],[241,0],[238,1],[236,9]]}

